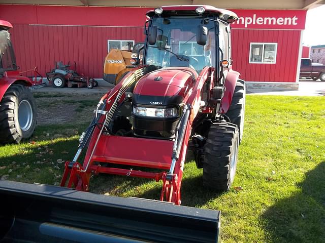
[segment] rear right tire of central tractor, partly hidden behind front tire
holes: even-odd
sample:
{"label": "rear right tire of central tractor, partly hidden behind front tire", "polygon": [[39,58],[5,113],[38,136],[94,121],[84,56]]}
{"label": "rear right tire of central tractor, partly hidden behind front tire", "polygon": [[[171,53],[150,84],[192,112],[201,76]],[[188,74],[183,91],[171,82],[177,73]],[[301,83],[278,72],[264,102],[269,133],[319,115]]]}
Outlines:
{"label": "rear right tire of central tractor, partly hidden behind front tire", "polygon": [[234,96],[229,110],[225,113],[231,123],[236,124],[239,130],[239,144],[243,139],[244,117],[245,117],[246,87],[245,81],[238,79]]}

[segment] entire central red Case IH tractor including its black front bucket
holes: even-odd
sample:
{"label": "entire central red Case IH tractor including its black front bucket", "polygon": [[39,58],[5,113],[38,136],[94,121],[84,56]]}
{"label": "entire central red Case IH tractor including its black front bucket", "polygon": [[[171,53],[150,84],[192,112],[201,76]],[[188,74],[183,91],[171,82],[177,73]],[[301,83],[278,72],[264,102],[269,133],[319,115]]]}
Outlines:
{"label": "entire central red Case IH tractor including its black front bucket", "polygon": [[[226,191],[234,180],[245,105],[231,60],[229,23],[237,16],[211,6],[147,15],[143,65],[102,97],[61,187],[0,181],[0,240],[218,241],[219,211],[176,205],[189,149],[205,186]],[[84,192],[99,173],[161,180],[161,201]]]}

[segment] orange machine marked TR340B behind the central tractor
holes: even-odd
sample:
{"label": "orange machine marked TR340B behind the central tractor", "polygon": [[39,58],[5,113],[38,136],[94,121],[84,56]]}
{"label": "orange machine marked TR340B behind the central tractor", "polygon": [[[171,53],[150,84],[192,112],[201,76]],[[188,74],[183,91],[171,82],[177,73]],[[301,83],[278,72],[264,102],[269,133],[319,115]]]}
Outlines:
{"label": "orange machine marked TR340B behind the central tractor", "polygon": [[[136,67],[137,61],[140,62],[144,43],[135,44],[133,51],[122,51],[119,49],[112,49],[106,56],[104,62],[103,78],[107,82],[116,85],[121,78],[132,68]],[[138,55],[140,58],[138,58]]]}

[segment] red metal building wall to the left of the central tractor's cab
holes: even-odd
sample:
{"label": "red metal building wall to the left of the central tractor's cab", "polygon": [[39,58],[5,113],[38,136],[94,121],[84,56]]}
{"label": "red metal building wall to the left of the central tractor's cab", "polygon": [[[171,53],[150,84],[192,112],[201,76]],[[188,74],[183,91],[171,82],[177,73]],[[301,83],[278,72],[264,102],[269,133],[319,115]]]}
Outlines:
{"label": "red metal building wall to the left of the central tractor's cab", "polygon": [[[77,71],[101,78],[108,39],[142,42],[146,8],[0,5],[20,70],[38,66],[45,76],[54,61],[77,63]],[[15,13],[15,14],[12,14]],[[27,74],[31,75],[31,73]]]}

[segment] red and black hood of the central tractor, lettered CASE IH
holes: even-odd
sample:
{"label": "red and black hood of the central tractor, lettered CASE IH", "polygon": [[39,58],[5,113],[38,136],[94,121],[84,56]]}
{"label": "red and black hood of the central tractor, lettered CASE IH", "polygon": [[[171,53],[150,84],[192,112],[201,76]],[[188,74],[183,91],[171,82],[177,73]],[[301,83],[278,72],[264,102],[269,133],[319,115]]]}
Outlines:
{"label": "red and black hood of the central tractor, lettered CASE IH", "polygon": [[133,91],[133,103],[174,106],[182,103],[198,77],[191,68],[163,68],[144,75]]}

